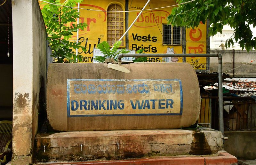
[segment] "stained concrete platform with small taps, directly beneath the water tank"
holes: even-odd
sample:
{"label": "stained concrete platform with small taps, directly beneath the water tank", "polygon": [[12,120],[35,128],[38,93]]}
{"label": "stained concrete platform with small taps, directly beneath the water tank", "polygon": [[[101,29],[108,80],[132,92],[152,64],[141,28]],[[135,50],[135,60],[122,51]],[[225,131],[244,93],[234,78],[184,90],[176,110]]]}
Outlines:
{"label": "stained concrete platform with small taps, directly beneath the water tank", "polygon": [[220,150],[221,132],[212,129],[74,131],[37,135],[34,158],[35,162],[120,160]]}

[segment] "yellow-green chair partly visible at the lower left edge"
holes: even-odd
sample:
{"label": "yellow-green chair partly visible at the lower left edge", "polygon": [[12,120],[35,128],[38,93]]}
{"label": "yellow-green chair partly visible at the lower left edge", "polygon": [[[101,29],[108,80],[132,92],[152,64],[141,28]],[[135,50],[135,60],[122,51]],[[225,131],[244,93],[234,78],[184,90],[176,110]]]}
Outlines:
{"label": "yellow-green chair partly visible at the lower left edge", "polygon": [[[0,155],[6,151],[12,142],[12,121],[0,121]],[[3,149],[4,148],[4,149]],[[0,163],[6,162],[6,155],[4,159],[0,159]]]}

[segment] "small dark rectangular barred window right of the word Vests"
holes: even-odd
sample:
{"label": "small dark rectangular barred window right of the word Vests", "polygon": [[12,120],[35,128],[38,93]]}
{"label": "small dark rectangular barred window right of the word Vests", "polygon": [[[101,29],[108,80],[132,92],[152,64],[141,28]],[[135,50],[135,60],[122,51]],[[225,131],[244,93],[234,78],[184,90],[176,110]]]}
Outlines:
{"label": "small dark rectangular barred window right of the word Vests", "polygon": [[181,45],[180,27],[163,24],[163,45]]}

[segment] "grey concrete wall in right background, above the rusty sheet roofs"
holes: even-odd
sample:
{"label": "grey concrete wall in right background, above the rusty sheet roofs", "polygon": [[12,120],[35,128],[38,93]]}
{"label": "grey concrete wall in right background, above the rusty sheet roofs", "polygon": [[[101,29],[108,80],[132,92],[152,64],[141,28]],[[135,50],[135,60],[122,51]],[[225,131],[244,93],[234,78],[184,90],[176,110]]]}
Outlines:
{"label": "grey concrete wall in right background, above the rusty sheet roofs", "polygon": [[[227,72],[233,76],[233,61],[235,61],[235,77],[256,77],[256,51],[235,50],[235,60],[233,50],[211,50],[210,53],[220,53],[222,55],[222,72]],[[218,71],[218,58],[210,58],[210,72]]]}

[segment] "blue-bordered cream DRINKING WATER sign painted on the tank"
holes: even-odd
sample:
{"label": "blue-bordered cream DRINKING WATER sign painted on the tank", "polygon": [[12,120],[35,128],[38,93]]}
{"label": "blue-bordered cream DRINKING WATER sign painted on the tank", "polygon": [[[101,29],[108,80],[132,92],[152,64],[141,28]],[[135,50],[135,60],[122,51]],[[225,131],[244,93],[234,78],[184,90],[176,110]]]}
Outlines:
{"label": "blue-bordered cream DRINKING WATER sign painted on the tank", "polygon": [[68,79],[68,117],[181,115],[178,79]]}

